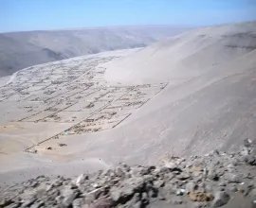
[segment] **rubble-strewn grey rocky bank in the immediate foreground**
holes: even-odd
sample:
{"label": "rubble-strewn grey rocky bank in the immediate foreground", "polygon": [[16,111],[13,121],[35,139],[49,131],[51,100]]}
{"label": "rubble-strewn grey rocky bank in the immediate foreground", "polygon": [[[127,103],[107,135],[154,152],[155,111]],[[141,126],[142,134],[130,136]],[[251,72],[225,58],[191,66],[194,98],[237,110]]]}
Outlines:
{"label": "rubble-strewn grey rocky bank in the immediate foreground", "polygon": [[78,178],[39,176],[1,187],[0,207],[255,207],[256,143],[160,165],[120,164]]}

